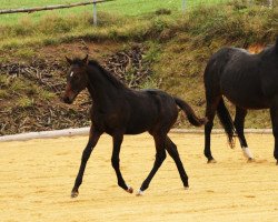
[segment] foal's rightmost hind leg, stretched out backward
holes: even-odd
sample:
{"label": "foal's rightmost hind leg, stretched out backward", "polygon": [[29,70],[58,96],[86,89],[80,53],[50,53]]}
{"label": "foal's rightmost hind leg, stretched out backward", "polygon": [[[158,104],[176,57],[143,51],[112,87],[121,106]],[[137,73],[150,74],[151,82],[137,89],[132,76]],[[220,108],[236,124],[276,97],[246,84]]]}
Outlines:
{"label": "foal's rightmost hind leg, stretched out backward", "polygon": [[179,152],[178,152],[177,145],[171,141],[171,139],[169,137],[166,138],[166,150],[169,153],[169,155],[173,159],[173,161],[178,168],[179,175],[180,175],[180,179],[183,183],[185,189],[188,189],[189,188],[188,176],[187,176],[187,173],[186,173],[185,168],[182,165],[182,162],[179,158]]}

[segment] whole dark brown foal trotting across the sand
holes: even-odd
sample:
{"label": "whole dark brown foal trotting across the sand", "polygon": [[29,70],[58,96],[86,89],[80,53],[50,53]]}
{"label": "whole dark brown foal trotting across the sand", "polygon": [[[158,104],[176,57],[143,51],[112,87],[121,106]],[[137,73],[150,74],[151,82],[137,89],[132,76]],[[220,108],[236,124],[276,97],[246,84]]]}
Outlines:
{"label": "whole dark brown foal trotting across the sand", "polygon": [[153,137],[157,153],[153,168],[143,181],[138,194],[142,194],[149,186],[151,179],[166,159],[166,150],[177,164],[183,186],[188,188],[188,176],[177,147],[167,133],[177,120],[177,105],[185,111],[189,122],[193,125],[205,124],[206,119],[197,118],[193,110],[185,101],[160,90],[127,88],[98,62],[88,61],[88,56],[85,59],[70,60],[67,58],[67,60],[70,63],[70,69],[67,77],[64,102],[72,103],[79,92],[86,88],[93,100],[90,112],[92,124],[89,141],[83,150],[71,196],[78,195],[86,163],[100,135],[105,132],[113,139],[111,162],[120,188],[129,193],[133,192],[133,189],[126,184],[120,172],[119,153],[123,134],[139,134],[145,131]]}

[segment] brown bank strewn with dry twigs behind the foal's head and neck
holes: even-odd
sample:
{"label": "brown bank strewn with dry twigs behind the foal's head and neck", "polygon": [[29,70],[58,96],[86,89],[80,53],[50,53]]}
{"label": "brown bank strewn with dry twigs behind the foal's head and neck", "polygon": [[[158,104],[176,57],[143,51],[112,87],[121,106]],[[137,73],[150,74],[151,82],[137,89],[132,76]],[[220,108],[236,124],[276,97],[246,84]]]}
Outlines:
{"label": "brown bank strewn with dry twigs behind the foal's head and neck", "polygon": [[[139,88],[152,74],[149,62],[143,60],[146,51],[142,44],[133,44],[109,54],[101,63],[129,87]],[[73,105],[61,101],[67,67],[63,60],[43,57],[0,65],[0,134],[90,124],[91,100],[87,92],[82,92]]]}

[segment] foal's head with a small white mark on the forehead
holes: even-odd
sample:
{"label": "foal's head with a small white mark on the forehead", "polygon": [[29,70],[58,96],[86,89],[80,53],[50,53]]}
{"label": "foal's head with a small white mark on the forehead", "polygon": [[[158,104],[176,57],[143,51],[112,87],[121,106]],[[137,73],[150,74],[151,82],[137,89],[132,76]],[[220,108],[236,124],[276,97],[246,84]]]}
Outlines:
{"label": "foal's head with a small white mark on the forehead", "polygon": [[88,54],[85,59],[75,59],[71,60],[67,58],[67,61],[70,64],[68,74],[67,74],[67,87],[63,95],[63,101],[66,103],[72,103],[76,97],[88,85]]}

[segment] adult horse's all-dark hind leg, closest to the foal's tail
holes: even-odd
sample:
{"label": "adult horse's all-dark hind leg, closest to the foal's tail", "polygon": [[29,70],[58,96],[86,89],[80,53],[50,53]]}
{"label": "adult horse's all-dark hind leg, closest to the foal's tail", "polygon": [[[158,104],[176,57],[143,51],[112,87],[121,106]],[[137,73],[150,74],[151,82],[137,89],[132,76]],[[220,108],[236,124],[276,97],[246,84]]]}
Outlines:
{"label": "adult horse's all-dark hind leg, closest to the foal's tail", "polygon": [[206,107],[206,117],[208,119],[207,124],[205,125],[205,150],[203,153],[208,159],[208,163],[216,163],[216,160],[211,155],[210,151],[210,134],[214,127],[214,120],[216,117],[217,105],[220,101],[220,97],[208,99],[207,97],[207,107]]}

